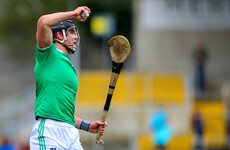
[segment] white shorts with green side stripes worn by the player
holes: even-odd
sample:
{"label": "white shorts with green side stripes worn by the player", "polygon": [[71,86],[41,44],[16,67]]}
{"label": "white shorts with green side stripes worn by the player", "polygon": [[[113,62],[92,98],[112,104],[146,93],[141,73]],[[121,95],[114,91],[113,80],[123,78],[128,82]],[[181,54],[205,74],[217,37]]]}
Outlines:
{"label": "white shorts with green side stripes worn by the player", "polygon": [[38,119],[30,135],[30,150],[83,150],[78,130],[71,124]]}

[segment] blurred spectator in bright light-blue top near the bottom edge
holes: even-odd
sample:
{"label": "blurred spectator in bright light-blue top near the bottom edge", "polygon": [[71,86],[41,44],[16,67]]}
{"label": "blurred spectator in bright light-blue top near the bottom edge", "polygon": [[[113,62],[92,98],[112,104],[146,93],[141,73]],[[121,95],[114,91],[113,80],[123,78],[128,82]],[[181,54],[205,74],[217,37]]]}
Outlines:
{"label": "blurred spectator in bright light-blue top near the bottom edge", "polygon": [[172,128],[167,122],[167,114],[164,110],[159,110],[151,116],[150,128],[155,150],[165,150],[172,137]]}

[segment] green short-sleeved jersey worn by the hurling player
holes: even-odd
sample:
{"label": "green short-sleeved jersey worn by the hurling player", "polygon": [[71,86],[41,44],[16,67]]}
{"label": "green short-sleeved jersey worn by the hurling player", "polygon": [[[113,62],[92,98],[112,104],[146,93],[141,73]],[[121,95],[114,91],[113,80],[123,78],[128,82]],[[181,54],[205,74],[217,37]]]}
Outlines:
{"label": "green short-sleeved jersey worn by the hurling player", "polygon": [[46,49],[36,46],[35,117],[50,118],[75,126],[76,71],[68,56],[54,43]]}

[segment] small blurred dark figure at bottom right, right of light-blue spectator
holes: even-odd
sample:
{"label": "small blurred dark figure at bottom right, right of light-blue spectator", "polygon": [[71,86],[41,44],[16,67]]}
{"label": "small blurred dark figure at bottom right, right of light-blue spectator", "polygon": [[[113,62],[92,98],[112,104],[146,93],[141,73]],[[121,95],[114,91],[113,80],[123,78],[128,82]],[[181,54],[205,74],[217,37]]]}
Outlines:
{"label": "small blurred dark figure at bottom right, right of light-blue spectator", "polygon": [[201,113],[196,112],[192,116],[192,129],[193,133],[195,135],[194,140],[194,150],[203,150],[203,131],[204,131],[204,125],[203,125],[203,118],[201,116]]}

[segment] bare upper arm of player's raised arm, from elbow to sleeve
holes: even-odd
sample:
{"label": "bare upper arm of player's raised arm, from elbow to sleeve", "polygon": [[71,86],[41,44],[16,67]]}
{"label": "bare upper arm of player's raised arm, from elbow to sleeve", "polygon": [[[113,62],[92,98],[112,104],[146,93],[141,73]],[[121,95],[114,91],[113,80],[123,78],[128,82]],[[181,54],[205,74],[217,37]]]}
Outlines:
{"label": "bare upper arm of player's raised arm, from elbow to sleeve", "polygon": [[52,44],[53,34],[47,25],[46,17],[42,16],[37,22],[36,40],[39,48],[46,48]]}

